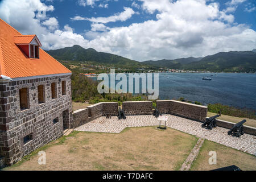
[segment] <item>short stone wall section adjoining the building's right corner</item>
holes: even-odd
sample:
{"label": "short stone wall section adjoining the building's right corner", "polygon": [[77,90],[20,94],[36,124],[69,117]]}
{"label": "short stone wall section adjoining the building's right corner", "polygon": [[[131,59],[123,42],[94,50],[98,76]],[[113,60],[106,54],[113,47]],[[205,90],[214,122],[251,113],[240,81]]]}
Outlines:
{"label": "short stone wall section adjoining the building's right corner", "polygon": [[89,110],[88,109],[79,109],[73,112],[73,127],[79,127],[88,123],[89,120]]}

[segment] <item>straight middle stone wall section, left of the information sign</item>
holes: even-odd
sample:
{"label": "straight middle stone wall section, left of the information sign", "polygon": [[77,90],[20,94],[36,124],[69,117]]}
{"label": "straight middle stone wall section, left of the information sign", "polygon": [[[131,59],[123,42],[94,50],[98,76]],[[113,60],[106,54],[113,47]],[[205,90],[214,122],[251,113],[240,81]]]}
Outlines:
{"label": "straight middle stone wall section, left of the information sign", "polygon": [[153,114],[152,101],[123,102],[122,106],[126,115]]}

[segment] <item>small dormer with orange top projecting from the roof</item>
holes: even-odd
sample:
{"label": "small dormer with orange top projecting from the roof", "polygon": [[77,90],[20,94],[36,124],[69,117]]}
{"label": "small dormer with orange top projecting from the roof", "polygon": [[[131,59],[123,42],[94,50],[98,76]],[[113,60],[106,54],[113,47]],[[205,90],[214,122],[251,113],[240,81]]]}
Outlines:
{"label": "small dormer with orange top projecting from the roof", "polygon": [[14,43],[26,53],[27,57],[39,59],[39,47],[42,44],[36,35],[14,36]]}

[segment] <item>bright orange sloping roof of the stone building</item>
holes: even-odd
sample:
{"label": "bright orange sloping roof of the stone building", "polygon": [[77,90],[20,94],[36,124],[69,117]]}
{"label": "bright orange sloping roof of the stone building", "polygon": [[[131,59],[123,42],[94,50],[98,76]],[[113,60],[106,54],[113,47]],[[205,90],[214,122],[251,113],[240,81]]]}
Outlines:
{"label": "bright orange sloping roof of the stone building", "polygon": [[39,48],[39,59],[30,59],[15,44],[15,41],[21,41],[20,38],[26,38],[27,43],[34,37],[35,35],[23,36],[0,19],[0,75],[19,78],[71,73],[43,49]]}

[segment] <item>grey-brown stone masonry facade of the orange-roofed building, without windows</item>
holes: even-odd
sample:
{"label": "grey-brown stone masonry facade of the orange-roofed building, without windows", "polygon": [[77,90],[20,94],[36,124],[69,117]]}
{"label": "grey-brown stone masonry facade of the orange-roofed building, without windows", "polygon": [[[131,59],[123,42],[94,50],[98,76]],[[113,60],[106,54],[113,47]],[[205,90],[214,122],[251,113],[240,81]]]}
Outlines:
{"label": "grey-brown stone masonry facade of the orange-roofed building, without windows", "polygon": [[[64,96],[61,93],[61,81],[66,81],[67,93]],[[52,82],[56,82],[57,90],[57,98],[53,100]],[[38,103],[38,85],[44,85],[43,104]],[[29,109],[20,109],[21,88],[28,88]],[[0,155],[5,157],[8,166],[36,148],[61,137],[63,125],[73,127],[70,75],[0,82],[0,92]],[[53,123],[55,118],[59,118],[58,122]],[[24,144],[23,138],[30,134],[32,139]]]}

